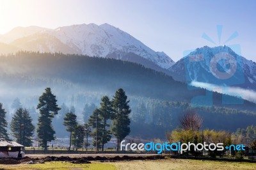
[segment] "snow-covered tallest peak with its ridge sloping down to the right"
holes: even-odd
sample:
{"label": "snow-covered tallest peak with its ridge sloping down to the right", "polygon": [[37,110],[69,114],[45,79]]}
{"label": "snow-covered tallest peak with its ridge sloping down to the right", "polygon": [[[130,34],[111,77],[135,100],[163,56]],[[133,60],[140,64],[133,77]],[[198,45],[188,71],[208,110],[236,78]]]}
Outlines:
{"label": "snow-covered tallest peak with its ridge sloping down to the right", "polygon": [[133,52],[162,68],[170,68],[174,63],[164,52],[155,52],[133,36],[107,23],[100,26],[80,24],[58,27],[45,32],[74,48],[74,51],[88,56],[104,58],[113,52],[122,51],[126,54]]}

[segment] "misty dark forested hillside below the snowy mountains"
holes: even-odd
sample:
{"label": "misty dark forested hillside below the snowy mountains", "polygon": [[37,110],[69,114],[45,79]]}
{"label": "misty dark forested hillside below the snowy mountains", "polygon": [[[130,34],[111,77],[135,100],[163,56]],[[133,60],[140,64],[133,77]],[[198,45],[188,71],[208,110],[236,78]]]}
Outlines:
{"label": "misty dark forested hillside below the snowy mountains", "polygon": [[[180,114],[191,107],[191,99],[207,92],[205,89],[190,90],[187,84],[174,81],[165,73],[116,59],[19,52],[0,56],[0,61],[0,102],[7,108],[9,120],[13,113],[10,106],[18,97],[22,105],[30,109],[36,122],[38,97],[50,87],[61,107],[74,106],[79,120],[87,121],[93,110],[90,107],[99,106],[103,95],[111,97],[116,89],[123,88],[131,100],[131,134],[163,137],[166,130],[177,127]],[[241,121],[246,127],[256,118],[253,103],[223,105],[219,93],[213,93],[212,98],[214,107],[197,108],[204,117],[204,127],[234,131],[243,125]],[[230,97],[233,99],[236,98]],[[54,118],[57,136],[67,135],[60,127],[68,108],[63,108]]]}

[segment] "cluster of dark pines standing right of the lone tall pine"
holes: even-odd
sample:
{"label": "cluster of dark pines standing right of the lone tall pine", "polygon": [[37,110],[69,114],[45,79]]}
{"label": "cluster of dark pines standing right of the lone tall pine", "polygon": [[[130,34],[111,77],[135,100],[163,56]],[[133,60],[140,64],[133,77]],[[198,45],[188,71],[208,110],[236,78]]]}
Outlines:
{"label": "cluster of dark pines standing right of the lone tall pine", "polygon": [[63,125],[70,132],[69,150],[72,144],[76,150],[81,148],[84,136],[86,136],[87,150],[88,135],[93,137],[93,146],[97,151],[99,149],[103,151],[104,144],[108,143],[114,135],[117,141],[116,150],[118,150],[120,141],[130,133],[130,113],[129,100],[127,100],[124,89],[118,89],[112,100],[108,96],[102,97],[100,107],[93,111],[84,125],[77,123],[77,116],[74,112],[67,112]]}

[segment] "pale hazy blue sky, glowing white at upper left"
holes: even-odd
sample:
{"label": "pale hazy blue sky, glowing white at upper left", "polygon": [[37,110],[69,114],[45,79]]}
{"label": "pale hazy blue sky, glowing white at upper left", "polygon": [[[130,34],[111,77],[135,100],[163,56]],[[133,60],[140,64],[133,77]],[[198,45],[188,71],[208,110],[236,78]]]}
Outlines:
{"label": "pale hazy blue sky, glowing white at upper left", "polygon": [[[56,28],[73,24],[119,27],[153,50],[174,61],[184,50],[228,44],[241,45],[242,55],[256,61],[256,1],[150,1],[150,0],[1,0],[0,34],[17,26]],[[222,25],[221,43],[216,26]],[[205,33],[216,42],[202,38]]]}

